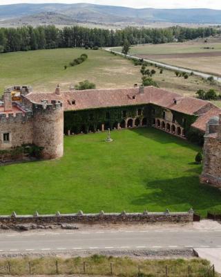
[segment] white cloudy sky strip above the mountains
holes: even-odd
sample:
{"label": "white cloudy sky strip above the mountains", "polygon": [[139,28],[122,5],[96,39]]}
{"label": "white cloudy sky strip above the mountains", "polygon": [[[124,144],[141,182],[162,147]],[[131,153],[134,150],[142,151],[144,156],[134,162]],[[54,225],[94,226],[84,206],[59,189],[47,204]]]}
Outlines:
{"label": "white cloudy sky strip above the mountains", "polygon": [[213,8],[221,10],[221,0],[0,0],[1,5],[13,3],[95,3],[133,8]]}

